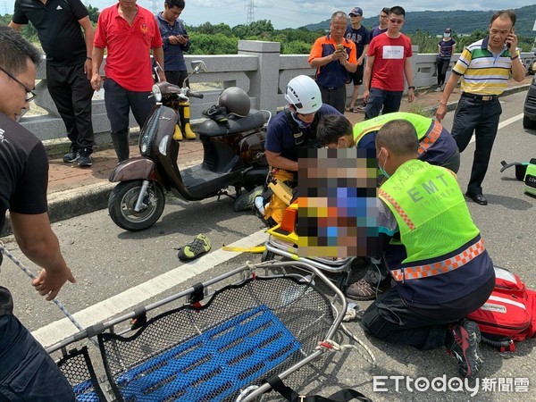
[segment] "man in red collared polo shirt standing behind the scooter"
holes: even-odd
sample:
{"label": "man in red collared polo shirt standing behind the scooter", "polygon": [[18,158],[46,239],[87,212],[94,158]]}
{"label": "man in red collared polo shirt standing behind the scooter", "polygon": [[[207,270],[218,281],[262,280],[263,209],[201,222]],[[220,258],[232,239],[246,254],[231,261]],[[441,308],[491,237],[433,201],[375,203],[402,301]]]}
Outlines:
{"label": "man in red collared polo shirt standing behind the scooter", "polygon": [[[91,86],[101,87],[100,66],[105,47],[106,114],[112,127],[112,141],[119,162],[129,159],[129,109],[141,128],[147,120],[154,98],[150,50],[163,69],[163,48],[155,16],[136,4],[136,0],[119,0],[105,8],[98,17],[93,46]],[[159,71],[160,80],[165,80]]]}

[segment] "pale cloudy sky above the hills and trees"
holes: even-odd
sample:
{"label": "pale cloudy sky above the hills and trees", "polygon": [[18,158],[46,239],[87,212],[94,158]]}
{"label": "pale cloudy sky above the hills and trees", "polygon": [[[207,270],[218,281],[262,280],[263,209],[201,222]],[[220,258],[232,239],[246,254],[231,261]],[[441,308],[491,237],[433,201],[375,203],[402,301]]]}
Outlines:
{"label": "pale cloudy sky above the hills and trees", "polygon": [[[82,0],[85,4],[91,4],[102,10],[103,8],[114,4],[109,0]],[[437,1],[431,0],[406,0],[398,4],[382,2],[362,2],[351,3],[339,0],[186,0],[186,7],[180,15],[180,18],[190,26],[197,26],[206,21],[213,25],[220,22],[228,24],[231,28],[245,24],[247,22],[247,4],[255,4],[254,16],[255,21],[271,20],[273,28],[298,28],[309,23],[316,23],[328,20],[331,13],[343,11],[349,13],[353,7],[361,7],[364,17],[378,15],[382,7],[402,5],[406,12],[418,11],[453,11],[453,10],[500,10],[505,7],[519,8],[524,5],[533,4],[530,0],[510,0],[509,2],[498,0],[487,0],[476,2],[474,0],[452,0],[442,2],[440,5]],[[163,0],[138,0],[138,4],[148,9],[152,4],[156,8],[163,9]],[[485,5],[484,5],[485,4]]]}

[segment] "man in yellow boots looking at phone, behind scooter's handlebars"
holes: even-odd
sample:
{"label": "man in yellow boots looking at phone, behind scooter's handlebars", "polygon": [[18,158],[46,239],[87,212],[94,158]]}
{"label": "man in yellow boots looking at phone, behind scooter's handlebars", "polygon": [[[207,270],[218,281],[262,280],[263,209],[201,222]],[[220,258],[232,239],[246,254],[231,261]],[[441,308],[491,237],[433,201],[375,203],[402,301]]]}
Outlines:
{"label": "man in yellow boots looking at phone, behind scooter's handlebars", "polygon": [[[163,65],[165,78],[168,82],[182,87],[184,80],[188,77],[184,52],[188,52],[190,40],[184,22],[179,16],[184,10],[184,0],[165,0],[163,12],[155,15],[160,35],[163,40]],[[188,85],[188,82],[186,83]],[[186,121],[180,109],[180,127],[183,134],[188,139],[196,139],[196,135],[191,130],[184,130]],[[181,131],[181,133],[182,133]],[[181,135],[179,136],[181,137]]]}

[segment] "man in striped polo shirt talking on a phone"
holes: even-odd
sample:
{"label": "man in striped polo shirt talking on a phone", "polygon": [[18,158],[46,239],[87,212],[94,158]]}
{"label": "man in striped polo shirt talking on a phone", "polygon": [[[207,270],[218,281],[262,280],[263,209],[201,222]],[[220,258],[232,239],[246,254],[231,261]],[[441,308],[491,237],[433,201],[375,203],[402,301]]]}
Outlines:
{"label": "man in striped polo shirt talking on a phone", "polygon": [[465,150],[474,132],[476,150],[465,195],[480,205],[488,205],[488,200],[482,195],[482,181],[488,171],[491,148],[502,113],[498,96],[507,88],[510,72],[516,81],[524,78],[524,66],[519,59],[514,30],[515,19],[515,13],[510,10],[493,14],[490,35],[465,47],[452,69],[453,74],[436,112],[436,119],[443,120],[447,114],[448,96],[462,78],[462,96],[450,132],[460,152]]}

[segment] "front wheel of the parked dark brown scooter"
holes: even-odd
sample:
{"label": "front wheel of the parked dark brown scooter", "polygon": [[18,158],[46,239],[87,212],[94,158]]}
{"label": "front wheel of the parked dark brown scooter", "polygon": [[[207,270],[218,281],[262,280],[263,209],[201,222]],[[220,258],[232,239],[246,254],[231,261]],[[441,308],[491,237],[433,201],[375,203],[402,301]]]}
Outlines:
{"label": "front wheel of the parked dark brown scooter", "polygon": [[121,229],[144,230],[158,221],[163,213],[165,197],[162,188],[151,181],[143,198],[141,209],[135,211],[142,180],[121,181],[108,198],[108,213],[112,221]]}

